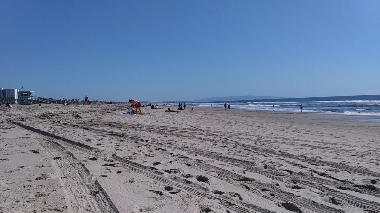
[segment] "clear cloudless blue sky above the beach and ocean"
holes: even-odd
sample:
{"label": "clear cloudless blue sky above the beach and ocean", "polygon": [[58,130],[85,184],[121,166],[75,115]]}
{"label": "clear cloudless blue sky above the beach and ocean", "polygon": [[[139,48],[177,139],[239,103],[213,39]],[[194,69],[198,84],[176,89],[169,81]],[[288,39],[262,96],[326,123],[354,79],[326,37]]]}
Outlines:
{"label": "clear cloudless blue sky above the beach and ocean", "polygon": [[380,94],[378,0],[0,1],[0,87],[55,99]]}

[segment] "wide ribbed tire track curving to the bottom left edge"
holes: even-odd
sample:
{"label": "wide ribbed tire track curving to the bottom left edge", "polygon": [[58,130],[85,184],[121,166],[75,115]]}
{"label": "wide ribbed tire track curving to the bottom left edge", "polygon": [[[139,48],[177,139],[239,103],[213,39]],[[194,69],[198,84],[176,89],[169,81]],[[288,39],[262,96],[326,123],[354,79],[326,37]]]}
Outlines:
{"label": "wide ribbed tire track curving to the bottom left edge", "polygon": [[91,180],[89,170],[78,162],[73,153],[58,143],[43,138],[36,139],[52,159],[52,164],[60,176],[69,213],[119,213],[101,185]]}

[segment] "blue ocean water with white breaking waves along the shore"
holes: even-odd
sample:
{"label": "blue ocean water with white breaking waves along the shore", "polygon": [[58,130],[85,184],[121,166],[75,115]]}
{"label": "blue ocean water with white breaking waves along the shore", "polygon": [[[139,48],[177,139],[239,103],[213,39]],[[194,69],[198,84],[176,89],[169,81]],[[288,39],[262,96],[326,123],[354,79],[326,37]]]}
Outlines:
{"label": "blue ocean water with white breaking waves along the shore", "polygon": [[[300,111],[303,105],[305,113],[333,113],[380,116],[380,95],[370,96],[336,96],[290,99],[241,100],[220,102],[193,102],[187,107],[222,107],[224,103],[231,104],[231,109],[241,110],[274,110]],[[274,104],[274,109],[272,109]]]}

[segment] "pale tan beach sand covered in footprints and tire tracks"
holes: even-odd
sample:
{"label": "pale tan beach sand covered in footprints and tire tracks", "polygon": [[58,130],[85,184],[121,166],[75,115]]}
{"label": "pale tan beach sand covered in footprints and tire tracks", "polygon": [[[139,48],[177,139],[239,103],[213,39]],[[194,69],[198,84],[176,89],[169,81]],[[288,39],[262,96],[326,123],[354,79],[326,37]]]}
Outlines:
{"label": "pale tan beach sand covered in footprints and tire tracks", "polygon": [[0,212],[380,212],[379,122],[126,108],[0,108]]}

